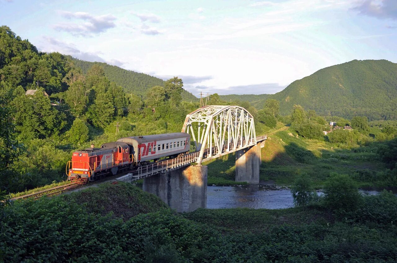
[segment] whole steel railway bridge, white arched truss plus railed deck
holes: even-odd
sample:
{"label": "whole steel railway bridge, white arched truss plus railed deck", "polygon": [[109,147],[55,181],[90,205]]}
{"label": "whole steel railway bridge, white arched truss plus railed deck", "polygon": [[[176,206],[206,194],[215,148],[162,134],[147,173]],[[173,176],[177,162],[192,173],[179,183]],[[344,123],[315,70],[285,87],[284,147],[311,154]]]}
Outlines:
{"label": "whole steel railway bridge, white arched truss plus railed deck", "polygon": [[239,106],[208,105],[187,114],[182,132],[191,134],[195,151],[164,161],[140,166],[117,181],[136,181],[166,170],[176,170],[239,151],[267,139],[256,136],[254,118]]}

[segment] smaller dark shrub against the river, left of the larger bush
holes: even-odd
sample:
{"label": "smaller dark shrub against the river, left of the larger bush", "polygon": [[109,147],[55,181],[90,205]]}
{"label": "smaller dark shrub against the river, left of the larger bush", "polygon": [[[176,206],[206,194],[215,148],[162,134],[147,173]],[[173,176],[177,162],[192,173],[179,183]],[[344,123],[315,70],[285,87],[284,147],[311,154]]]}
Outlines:
{"label": "smaller dark shrub against the river, left of the larger bush", "polygon": [[301,175],[295,179],[291,187],[291,194],[294,198],[295,206],[306,206],[317,196],[307,174]]}

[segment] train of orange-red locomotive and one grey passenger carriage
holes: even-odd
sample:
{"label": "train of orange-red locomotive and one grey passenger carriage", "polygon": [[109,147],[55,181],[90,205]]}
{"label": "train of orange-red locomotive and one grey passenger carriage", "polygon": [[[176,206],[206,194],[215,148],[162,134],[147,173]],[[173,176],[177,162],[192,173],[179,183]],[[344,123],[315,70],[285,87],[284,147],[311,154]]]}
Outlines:
{"label": "train of orange-red locomotive and one grey passenger carriage", "polygon": [[189,133],[176,132],[134,136],[104,143],[100,148],[73,152],[67,163],[67,179],[73,182],[94,181],[111,173],[148,164],[161,157],[176,157],[190,150]]}

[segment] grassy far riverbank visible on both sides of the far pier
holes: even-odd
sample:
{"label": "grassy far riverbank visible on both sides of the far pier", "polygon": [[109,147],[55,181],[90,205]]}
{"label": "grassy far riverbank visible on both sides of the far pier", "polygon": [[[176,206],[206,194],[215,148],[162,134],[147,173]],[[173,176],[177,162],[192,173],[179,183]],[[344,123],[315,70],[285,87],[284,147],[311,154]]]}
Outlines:
{"label": "grassy far riverbank visible on both sides of the far pier", "polygon": [[[261,154],[261,181],[288,186],[297,176],[307,175],[314,187],[321,189],[332,173],[339,173],[351,176],[360,188],[397,186],[396,176],[380,161],[375,146],[339,149],[326,141],[296,137],[284,129],[268,135]],[[204,164],[208,166],[208,185],[230,185],[234,181],[234,153]]]}

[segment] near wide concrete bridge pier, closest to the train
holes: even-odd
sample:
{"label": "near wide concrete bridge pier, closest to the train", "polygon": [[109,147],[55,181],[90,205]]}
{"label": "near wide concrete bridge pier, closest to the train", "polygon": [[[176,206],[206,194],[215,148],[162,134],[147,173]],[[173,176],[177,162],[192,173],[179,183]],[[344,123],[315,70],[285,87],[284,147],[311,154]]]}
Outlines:
{"label": "near wide concrete bridge pier, closest to the train", "polygon": [[177,212],[207,207],[207,166],[187,166],[143,179],[143,191],[156,194]]}

